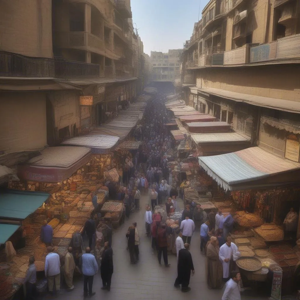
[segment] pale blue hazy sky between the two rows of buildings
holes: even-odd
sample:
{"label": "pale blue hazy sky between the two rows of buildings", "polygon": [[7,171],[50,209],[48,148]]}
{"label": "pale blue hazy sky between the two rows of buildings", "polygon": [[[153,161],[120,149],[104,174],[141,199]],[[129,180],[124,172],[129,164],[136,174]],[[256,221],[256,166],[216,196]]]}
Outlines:
{"label": "pale blue hazy sky between the two rows of buildings", "polygon": [[131,0],[133,24],[144,44],[144,52],[181,49],[193,33],[208,0]]}

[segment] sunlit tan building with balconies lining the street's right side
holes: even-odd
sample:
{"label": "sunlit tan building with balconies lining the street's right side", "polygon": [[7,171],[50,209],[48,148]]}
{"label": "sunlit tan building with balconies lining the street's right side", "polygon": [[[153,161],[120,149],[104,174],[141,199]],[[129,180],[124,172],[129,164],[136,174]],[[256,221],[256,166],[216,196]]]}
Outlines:
{"label": "sunlit tan building with balconies lining the street's right side", "polygon": [[182,91],[201,113],[299,162],[300,5],[211,0],[184,43]]}

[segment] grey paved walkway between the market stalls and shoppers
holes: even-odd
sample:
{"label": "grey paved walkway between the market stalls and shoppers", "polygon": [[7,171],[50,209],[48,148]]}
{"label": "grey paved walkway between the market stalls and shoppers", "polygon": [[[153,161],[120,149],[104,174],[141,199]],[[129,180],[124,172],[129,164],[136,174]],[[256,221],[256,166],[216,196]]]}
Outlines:
{"label": "grey paved walkway between the market stalls and shoppers", "polygon": [[[193,257],[195,276],[191,276],[191,291],[182,293],[174,287],[177,276],[176,256],[168,255],[171,266],[166,268],[158,265],[156,254],[152,254],[151,240],[146,236],[145,205],[148,197],[143,196],[140,200],[141,209],[130,215],[130,218],[113,234],[113,263],[114,273],[111,290],[101,290],[102,280],[100,274],[94,276],[93,290],[96,295],[92,299],[105,300],[144,300],[144,299],[221,299],[223,289],[208,289],[205,282],[205,256],[200,252],[199,231],[196,231],[191,240],[190,251]],[[183,202],[178,199],[177,204],[183,208]],[[129,252],[126,250],[127,241],[125,234],[128,227],[137,222],[140,235],[140,261],[130,264]],[[83,299],[83,280],[74,282],[75,289],[72,292],[61,290],[58,299],[77,300]],[[251,299],[245,298],[242,299]],[[258,298],[256,298],[258,299]]]}

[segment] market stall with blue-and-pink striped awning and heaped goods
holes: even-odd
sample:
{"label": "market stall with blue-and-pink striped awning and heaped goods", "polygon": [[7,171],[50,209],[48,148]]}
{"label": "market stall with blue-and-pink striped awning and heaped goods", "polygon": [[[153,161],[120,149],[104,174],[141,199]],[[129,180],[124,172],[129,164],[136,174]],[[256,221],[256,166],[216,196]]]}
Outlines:
{"label": "market stall with blue-and-pink striped awning and heaped goods", "polygon": [[[280,279],[277,290],[291,293],[300,249],[292,247],[295,235],[289,229],[293,226],[284,222],[297,223],[298,215],[293,208],[299,209],[295,178],[299,178],[300,164],[259,147],[199,157],[199,164],[227,192],[226,199],[218,199],[214,204],[222,212],[235,211],[231,236],[243,254],[236,264],[244,285],[255,286],[270,274]],[[271,290],[272,283],[269,284]]]}

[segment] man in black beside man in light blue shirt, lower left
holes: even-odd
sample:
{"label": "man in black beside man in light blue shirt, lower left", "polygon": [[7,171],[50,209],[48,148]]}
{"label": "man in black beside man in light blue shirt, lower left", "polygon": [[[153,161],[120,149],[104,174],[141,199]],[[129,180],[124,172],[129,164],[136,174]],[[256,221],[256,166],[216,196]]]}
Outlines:
{"label": "man in black beside man in light blue shirt, lower left", "polygon": [[104,251],[101,255],[101,278],[102,288],[110,291],[110,283],[113,275],[113,249],[110,247],[109,242],[104,243]]}

